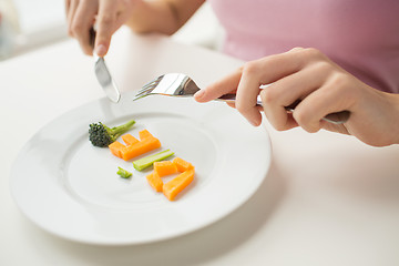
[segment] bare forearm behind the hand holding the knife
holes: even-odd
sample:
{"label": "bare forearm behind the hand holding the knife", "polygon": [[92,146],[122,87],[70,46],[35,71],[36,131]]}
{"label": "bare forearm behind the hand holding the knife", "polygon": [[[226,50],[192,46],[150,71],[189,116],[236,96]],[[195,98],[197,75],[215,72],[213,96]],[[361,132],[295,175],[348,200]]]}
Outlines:
{"label": "bare forearm behind the hand holding the knife", "polygon": [[173,34],[204,3],[205,0],[156,0],[136,1],[126,21],[137,33],[158,32]]}

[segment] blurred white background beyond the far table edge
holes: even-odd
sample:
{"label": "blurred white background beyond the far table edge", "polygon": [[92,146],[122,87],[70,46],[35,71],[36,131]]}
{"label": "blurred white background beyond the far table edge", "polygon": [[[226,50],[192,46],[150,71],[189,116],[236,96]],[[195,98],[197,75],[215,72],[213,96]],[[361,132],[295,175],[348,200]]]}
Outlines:
{"label": "blurred white background beyond the far table edge", "polygon": [[[64,0],[0,0],[0,60],[65,40]],[[218,49],[223,31],[205,3],[173,39]]]}

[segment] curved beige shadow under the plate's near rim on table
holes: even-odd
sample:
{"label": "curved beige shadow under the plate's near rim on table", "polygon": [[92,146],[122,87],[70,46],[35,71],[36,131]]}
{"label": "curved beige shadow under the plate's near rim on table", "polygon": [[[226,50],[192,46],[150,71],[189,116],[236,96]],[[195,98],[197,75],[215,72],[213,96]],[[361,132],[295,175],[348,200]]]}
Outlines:
{"label": "curved beige shadow under the plate's near rim on table", "polygon": [[[284,197],[286,186],[278,168],[272,167],[258,191],[237,211],[192,234],[145,245],[92,246],[64,241],[42,231],[27,229],[27,238],[34,242],[38,252],[45,253],[48,245],[57,245],[62,254],[84,265],[198,265],[217,260],[246,241],[264,226]],[[35,237],[33,234],[40,234]],[[43,234],[47,236],[43,237]],[[45,242],[45,243],[38,243]],[[50,250],[49,250],[50,252]],[[54,248],[51,248],[51,253]],[[62,255],[43,254],[48,257]],[[70,260],[70,259],[69,259]],[[71,260],[70,260],[71,262]],[[62,263],[60,263],[62,265]]]}

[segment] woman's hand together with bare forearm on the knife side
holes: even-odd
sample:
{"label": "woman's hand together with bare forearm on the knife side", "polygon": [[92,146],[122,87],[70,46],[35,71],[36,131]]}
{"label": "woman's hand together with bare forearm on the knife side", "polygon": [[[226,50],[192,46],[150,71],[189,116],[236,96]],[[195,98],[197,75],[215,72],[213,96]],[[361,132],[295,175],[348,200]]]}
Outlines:
{"label": "woman's hand together with bare forearm on the knife side", "polygon": [[94,52],[104,57],[112,34],[126,24],[134,32],[173,34],[205,0],[65,0],[69,34],[91,55],[90,29],[94,22]]}

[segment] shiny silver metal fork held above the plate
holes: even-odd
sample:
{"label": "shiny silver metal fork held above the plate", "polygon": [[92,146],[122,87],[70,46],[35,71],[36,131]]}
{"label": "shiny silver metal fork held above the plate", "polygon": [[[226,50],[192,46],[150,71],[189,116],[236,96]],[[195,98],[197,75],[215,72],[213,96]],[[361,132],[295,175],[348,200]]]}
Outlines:
{"label": "shiny silver metal fork held above the plate", "polygon": [[[265,89],[267,85],[262,85],[260,89]],[[149,95],[166,95],[166,96],[193,96],[195,92],[200,91],[200,88],[195,82],[187,75],[181,73],[168,73],[160,75],[155,80],[145,84],[133,98],[133,101],[149,96]],[[225,94],[217,101],[224,102],[235,102],[235,94]],[[285,106],[287,112],[294,112],[295,108],[300,101],[295,101],[293,104]],[[262,106],[262,99],[258,95],[256,103]],[[344,124],[348,121],[350,116],[349,111],[341,111],[336,113],[327,114],[323,117],[324,121],[327,121],[332,124]]]}

